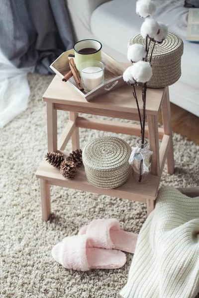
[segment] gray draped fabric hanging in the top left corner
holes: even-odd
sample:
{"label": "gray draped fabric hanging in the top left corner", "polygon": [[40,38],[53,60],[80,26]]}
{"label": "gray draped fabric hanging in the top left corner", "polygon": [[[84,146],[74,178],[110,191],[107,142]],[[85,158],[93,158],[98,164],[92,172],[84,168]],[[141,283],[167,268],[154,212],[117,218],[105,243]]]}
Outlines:
{"label": "gray draped fabric hanging in the top left corner", "polygon": [[48,74],[73,44],[65,0],[0,0],[0,50],[17,68]]}

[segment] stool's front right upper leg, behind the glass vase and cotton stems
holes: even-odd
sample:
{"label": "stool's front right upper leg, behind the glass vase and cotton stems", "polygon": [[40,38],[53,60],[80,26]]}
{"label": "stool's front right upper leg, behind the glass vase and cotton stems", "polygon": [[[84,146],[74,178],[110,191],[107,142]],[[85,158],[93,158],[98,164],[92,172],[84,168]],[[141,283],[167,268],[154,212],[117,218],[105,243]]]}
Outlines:
{"label": "stool's front right upper leg, behind the glass vase and cotton stems", "polygon": [[159,135],[158,135],[158,119],[155,115],[147,115],[149,130],[149,147],[153,151],[151,157],[151,173],[152,175],[160,175],[160,152],[159,152]]}

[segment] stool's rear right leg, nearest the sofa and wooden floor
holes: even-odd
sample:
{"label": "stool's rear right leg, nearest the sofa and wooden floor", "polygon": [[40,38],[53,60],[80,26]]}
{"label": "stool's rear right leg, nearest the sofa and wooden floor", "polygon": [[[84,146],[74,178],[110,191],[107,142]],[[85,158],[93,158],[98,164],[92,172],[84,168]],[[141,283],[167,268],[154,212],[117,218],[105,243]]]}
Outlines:
{"label": "stool's rear right leg, nearest the sofa and wooden floor", "polygon": [[167,167],[168,167],[168,173],[173,174],[174,173],[174,147],[173,147],[173,139],[172,139],[169,87],[166,87],[166,92],[162,103],[162,120],[163,120],[165,135],[169,135],[171,137],[168,154],[167,154]]}

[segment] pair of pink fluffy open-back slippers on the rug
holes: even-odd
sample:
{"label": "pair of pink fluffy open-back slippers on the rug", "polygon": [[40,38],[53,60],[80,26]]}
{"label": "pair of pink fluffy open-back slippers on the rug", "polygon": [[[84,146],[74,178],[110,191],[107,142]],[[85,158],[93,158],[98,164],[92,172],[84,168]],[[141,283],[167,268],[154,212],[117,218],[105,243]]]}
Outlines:
{"label": "pair of pink fluffy open-back slippers on the rug", "polygon": [[78,235],[56,244],[52,256],[67,269],[117,269],[126,262],[122,251],[134,253],[137,237],[138,234],[121,230],[116,219],[93,220]]}

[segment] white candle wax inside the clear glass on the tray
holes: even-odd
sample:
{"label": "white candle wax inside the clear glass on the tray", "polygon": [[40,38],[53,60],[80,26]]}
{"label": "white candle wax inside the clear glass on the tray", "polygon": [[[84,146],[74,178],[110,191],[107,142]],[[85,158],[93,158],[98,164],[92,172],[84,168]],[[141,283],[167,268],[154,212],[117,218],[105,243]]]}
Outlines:
{"label": "white candle wax inside the clear glass on the tray", "polygon": [[103,83],[103,72],[100,67],[90,66],[82,70],[85,90],[93,90]]}

